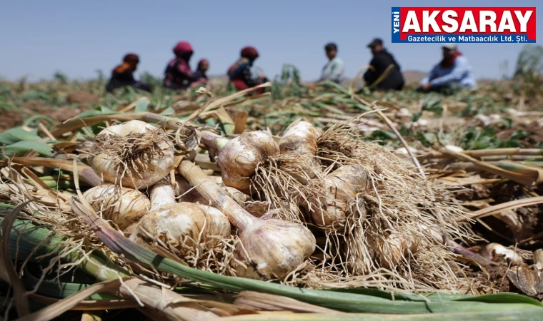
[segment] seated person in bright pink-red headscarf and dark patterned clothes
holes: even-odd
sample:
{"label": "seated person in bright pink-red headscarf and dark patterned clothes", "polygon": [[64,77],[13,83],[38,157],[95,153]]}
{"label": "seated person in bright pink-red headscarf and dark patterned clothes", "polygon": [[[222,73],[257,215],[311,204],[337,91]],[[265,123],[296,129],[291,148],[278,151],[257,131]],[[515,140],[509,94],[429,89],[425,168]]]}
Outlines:
{"label": "seated person in bright pink-red headscarf and dark patterned clothes", "polygon": [[194,51],[191,44],[179,41],[174,47],[175,58],[169,61],[164,71],[164,86],[174,90],[189,88],[191,83],[198,79],[194,77],[189,66]]}

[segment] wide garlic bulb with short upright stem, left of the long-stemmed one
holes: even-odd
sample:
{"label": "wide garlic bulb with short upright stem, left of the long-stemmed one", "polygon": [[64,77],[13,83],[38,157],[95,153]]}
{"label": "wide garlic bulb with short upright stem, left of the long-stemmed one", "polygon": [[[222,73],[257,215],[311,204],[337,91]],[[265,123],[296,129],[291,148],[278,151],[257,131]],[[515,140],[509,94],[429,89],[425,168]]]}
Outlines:
{"label": "wide garlic bulb with short upright stem, left of the long-stemmed one", "polygon": [[174,188],[166,181],[153,185],[150,194],[151,212],[139,220],[131,240],[152,235],[174,247],[181,244],[194,247],[212,240],[213,236],[230,234],[229,220],[220,210],[195,203],[175,203]]}

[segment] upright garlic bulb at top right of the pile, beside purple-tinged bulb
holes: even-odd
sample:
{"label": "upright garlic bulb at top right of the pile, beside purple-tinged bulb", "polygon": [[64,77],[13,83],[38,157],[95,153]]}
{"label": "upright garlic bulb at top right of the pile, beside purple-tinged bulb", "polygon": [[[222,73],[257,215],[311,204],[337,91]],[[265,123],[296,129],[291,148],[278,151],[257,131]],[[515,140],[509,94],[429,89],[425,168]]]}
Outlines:
{"label": "upright garlic bulb at top right of the pile, beside purple-tinged bulb", "polygon": [[279,139],[279,151],[282,156],[280,168],[299,183],[307,185],[320,169],[317,155],[317,129],[307,121],[300,118],[287,127],[281,139]]}

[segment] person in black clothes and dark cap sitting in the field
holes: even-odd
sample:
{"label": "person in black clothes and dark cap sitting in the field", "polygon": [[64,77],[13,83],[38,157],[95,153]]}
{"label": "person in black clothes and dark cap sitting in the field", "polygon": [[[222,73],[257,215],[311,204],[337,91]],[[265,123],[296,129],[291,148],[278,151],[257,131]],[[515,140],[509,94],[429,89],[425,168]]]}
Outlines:
{"label": "person in black clothes and dark cap sitting in the field", "polygon": [[[405,81],[400,71],[399,63],[384,48],[383,41],[376,38],[368,45],[368,48],[372,50],[373,58],[369,63],[370,67],[364,73],[366,86],[372,86],[379,78],[384,77],[377,85],[374,85],[374,89],[402,90]],[[385,72],[387,73],[386,75],[384,75]]]}

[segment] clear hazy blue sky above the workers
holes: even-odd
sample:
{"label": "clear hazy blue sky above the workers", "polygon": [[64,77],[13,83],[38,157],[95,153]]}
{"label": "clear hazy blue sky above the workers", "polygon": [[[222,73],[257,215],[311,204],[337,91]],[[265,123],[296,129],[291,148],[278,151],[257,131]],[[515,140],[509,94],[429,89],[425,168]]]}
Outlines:
{"label": "clear hazy blue sky above the workers", "polygon": [[[536,6],[541,0],[517,0]],[[194,47],[191,66],[208,58],[208,74],[221,75],[241,47],[259,50],[255,66],[273,78],[293,63],[304,80],[318,78],[327,62],[324,44],[334,41],[346,76],[369,63],[367,44],[380,37],[404,71],[429,71],[441,58],[439,44],[391,44],[392,6],[443,6],[437,1],[143,1],[18,0],[0,10],[0,77],[30,81],[61,71],[69,78],[96,77],[128,52],[139,54],[136,76],[161,76],[177,41]],[[511,6],[511,1],[448,2],[453,6]],[[539,12],[539,16],[543,13]],[[538,17],[537,34],[543,37]],[[477,78],[500,78],[514,68],[523,44],[459,44]]]}

